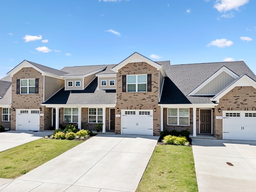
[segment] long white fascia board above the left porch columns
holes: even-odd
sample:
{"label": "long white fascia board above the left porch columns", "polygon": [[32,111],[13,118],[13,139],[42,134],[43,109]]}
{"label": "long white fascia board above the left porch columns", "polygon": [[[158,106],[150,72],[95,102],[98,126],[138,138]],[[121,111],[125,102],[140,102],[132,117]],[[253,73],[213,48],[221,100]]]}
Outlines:
{"label": "long white fascia board above the left porch columns", "polygon": [[90,105],[70,105],[70,104],[41,104],[46,108],[115,108],[116,104],[90,104]]}

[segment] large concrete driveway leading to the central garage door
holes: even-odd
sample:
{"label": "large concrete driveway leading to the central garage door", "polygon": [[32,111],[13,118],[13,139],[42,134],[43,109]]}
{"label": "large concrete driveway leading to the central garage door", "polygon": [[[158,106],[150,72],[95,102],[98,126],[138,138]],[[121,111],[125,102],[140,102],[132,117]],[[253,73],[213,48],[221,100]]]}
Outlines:
{"label": "large concrete driveway leading to the central garage door", "polygon": [[1,192],[134,192],[159,137],[97,135],[15,180]]}

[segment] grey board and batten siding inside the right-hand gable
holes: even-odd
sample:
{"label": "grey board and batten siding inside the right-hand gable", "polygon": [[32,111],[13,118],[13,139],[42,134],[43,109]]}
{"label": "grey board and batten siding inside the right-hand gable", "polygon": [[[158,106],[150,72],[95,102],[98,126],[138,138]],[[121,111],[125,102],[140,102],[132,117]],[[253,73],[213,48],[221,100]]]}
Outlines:
{"label": "grey board and batten siding inside the right-hand gable", "polygon": [[234,80],[235,78],[233,78],[226,72],[222,72],[212,81],[210,81],[206,86],[196,92],[195,95],[216,95]]}

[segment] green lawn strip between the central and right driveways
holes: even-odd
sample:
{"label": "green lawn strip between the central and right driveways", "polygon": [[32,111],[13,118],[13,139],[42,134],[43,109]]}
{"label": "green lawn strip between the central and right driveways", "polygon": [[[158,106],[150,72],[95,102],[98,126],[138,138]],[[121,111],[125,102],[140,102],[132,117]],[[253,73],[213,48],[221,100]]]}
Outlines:
{"label": "green lawn strip between the central and right driveways", "polygon": [[192,148],[156,146],[136,192],[198,192]]}

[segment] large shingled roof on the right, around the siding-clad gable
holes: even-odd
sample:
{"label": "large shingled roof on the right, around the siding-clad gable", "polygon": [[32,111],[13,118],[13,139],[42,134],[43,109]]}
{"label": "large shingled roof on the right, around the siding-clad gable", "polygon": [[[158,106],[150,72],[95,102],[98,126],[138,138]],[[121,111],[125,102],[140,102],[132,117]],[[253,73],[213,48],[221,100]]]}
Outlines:
{"label": "large shingled roof on the right, around the siding-clad gable", "polygon": [[[164,70],[170,80],[168,78],[164,80],[160,104],[182,104],[184,98],[180,96],[181,93],[193,104],[212,103],[210,101],[212,96],[187,95],[223,66],[226,66],[238,76],[246,74],[253,80],[256,80],[255,74],[243,61],[164,65]],[[179,92],[176,91],[177,89]],[[170,92],[173,92],[171,96]]]}

